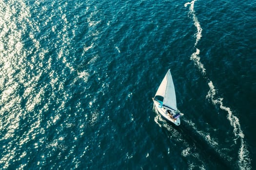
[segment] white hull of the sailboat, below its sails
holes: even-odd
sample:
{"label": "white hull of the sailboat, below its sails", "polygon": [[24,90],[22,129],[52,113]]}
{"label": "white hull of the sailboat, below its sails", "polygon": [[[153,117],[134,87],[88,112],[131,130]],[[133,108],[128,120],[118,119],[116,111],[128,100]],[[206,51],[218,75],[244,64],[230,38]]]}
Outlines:
{"label": "white hull of the sailboat, below its sails", "polygon": [[[173,119],[173,118],[171,118],[169,115],[166,114],[166,111],[167,111],[167,110],[171,110],[171,109],[168,109],[168,108],[166,108],[166,107],[164,107],[164,106],[160,107],[161,104],[160,104],[158,101],[155,101],[154,99],[153,99],[153,102],[154,102],[154,105],[156,106],[156,108],[157,108],[157,110],[158,110],[158,113],[159,113],[164,119],[166,119],[166,120],[168,120],[168,121],[174,123],[174,124],[177,125],[177,126],[180,125],[180,119],[179,119],[179,118]],[[172,115],[175,115],[176,113],[174,113],[174,111],[171,110],[171,114],[172,114]]]}

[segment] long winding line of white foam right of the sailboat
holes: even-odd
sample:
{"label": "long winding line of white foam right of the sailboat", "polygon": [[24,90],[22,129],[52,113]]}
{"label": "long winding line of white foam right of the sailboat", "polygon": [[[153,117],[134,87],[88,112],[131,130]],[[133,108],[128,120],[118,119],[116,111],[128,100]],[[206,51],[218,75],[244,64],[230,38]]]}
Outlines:
{"label": "long winding line of white foam right of the sailboat", "polygon": [[224,110],[228,113],[227,119],[230,121],[231,126],[234,128],[233,132],[236,137],[234,140],[235,144],[238,139],[240,140],[240,147],[239,147],[240,149],[238,151],[238,166],[239,166],[239,168],[240,169],[251,169],[251,159],[249,157],[249,152],[247,150],[246,143],[244,142],[244,134],[241,130],[239,119],[233,115],[233,112],[229,107],[223,105],[223,102],[222,102],[223,98],[216,97],[217,90],[215,89],[213,82],[206,76],[206,69],[204,68],[204,65],[200,62],[200,57],[199,57],[200,50],[196,46],[197,46],[198,41],[202,37],[202,28],[200,26],[200,23],[198,22],[196,14],[195,14],[195,10],[194,10],[195,2],[196,2],[196,0],[192,0],[191,2],[187,2],[184,4],[185,7],[190,5],[189,16],[191,16],[193,18],[194,25],[197,28],[197,33],[195,34],[196,52],[194,52],[191,55],[190,59],[192,61],[194,61],[194,64],[201,71],[201,74],[204,76],[204,78],[208,81],[208,86],[209,86],[210,90],[209,90],[206,98],[210,99],[214,105],[218,105],[219,108],[221,108],[222,110]]}

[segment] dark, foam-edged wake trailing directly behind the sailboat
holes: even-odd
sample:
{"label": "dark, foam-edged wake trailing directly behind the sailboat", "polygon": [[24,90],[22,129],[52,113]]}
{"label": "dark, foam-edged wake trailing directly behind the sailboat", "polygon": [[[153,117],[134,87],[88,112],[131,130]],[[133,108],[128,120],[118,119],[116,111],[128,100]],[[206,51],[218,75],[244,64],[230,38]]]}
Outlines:
{"label": "dark, foam-edged wake trailing directly behind the sailboat", "polygon": [[[208,160],[206,157],[211,157],[212,162],[217,162],[218,166],[224,167],[225,169],[230,169],[228,161],[221,155],[220,149],[218,149],[218,143],[210,137],[208,133],[199,131],[195,123],[190,120],[183,119],[181,126],[175,126],[171,123],[168,123],[165,119],[158,114],[158,110],[155,105],[153,105],[153,111],[156,113],[155,122],[159,127],[166,129],[168,132],[168,138],[175,143],[182,142],[181,155],[188,158],[189,169],[200,169],[204,170],[205,162]],[[200,153],[198,153],[200,149]],[[168,148],[168,154],[170,153]],[[194,165],[196,160],[197,165]]]}

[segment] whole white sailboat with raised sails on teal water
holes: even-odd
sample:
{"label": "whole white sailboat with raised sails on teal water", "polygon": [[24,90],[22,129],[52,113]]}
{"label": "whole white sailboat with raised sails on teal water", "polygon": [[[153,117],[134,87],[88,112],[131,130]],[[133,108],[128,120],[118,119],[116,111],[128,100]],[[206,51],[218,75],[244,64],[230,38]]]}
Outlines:
{"label": "whole white sailboat with raised sails on teal water", "polygon": [[176,94],[173,83],[173,78],[170,69],[165,74],[158,91],[153,99],[159,114],[166,120],[180,125],[180,113],[177,109]]}

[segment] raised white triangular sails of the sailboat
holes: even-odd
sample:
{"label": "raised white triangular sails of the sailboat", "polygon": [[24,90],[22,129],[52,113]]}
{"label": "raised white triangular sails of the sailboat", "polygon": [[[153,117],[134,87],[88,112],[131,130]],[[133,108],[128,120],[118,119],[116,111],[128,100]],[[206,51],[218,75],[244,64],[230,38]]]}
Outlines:
{"label": "raised white triangular sails of the sailboat", "polygon": [[165,74],[155,96],[162,96],[163,105],[177,110],[175,88],[170,69]]}

